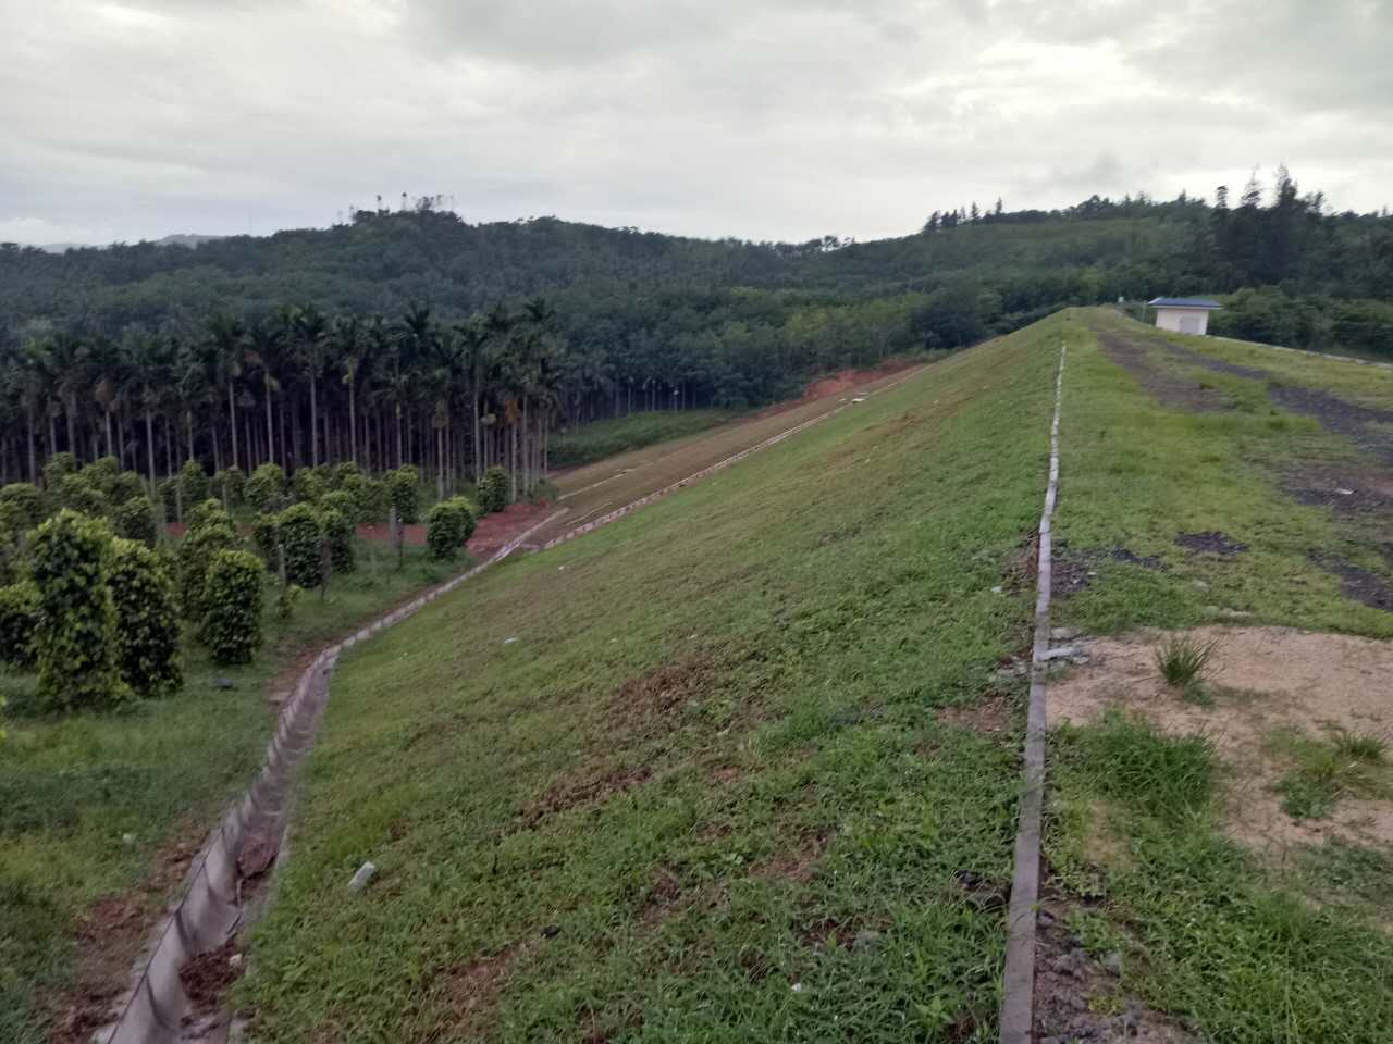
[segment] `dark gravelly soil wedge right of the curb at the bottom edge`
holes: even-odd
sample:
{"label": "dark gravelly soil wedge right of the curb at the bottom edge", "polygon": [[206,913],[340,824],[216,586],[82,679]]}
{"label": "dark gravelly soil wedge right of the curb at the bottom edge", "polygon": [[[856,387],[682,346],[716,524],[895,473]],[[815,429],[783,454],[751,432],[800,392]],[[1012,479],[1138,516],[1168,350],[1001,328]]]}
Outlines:
{"label": "dark gravelly soil wedge right of the curb at the bottom edge", "polygon": [[1127,995],[1119,976],[1089,956],[1067,926],[1074,905],[1050,896],[1035,937],[1035,1037],[1041,1044],[1194,1040],[1166,1016]]}

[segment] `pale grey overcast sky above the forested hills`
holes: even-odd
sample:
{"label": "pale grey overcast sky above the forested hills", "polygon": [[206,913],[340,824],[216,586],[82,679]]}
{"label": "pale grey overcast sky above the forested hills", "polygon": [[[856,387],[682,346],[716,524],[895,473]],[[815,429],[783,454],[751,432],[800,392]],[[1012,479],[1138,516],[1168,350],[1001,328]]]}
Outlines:
{"label": "pale grey overcast sky above the forested hills", "polygon": [[401,192],[868,239],[1277,163],[1368,210],[1390,113],[1385,0],[0,0],[0,239],[266,234]]}

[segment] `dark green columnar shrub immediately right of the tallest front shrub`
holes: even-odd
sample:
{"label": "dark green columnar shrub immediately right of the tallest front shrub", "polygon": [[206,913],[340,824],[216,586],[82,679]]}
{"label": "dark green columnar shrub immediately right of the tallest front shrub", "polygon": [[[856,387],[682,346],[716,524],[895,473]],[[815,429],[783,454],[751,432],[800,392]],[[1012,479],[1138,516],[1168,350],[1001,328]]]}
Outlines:
{"label": "dark green columnar shrub immediately right of the tallest front shrub", "polygon": [[[146,501],[149,503],[149,501]],[[155,551],[135,540],[111,544],[111,597],[121,681],[137,696],[169,696],[184,685],[174,583]]]}

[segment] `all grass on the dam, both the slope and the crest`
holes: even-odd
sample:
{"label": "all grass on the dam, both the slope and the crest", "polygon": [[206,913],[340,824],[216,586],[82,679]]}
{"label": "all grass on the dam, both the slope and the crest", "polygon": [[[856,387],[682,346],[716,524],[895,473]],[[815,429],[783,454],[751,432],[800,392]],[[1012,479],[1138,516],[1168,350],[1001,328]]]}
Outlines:
{"label": "all grass on the dam, both the slope and the crest", "polygon": [[[999,668],[1060,345],[1056,622],[1393,635],[1334,565],[1386,578],[1373,530],[1287,482],[1368,448],[1162,340],[1057,315],[348,654],[233,995],[252,1038],[995,1038],[1025,695]],[[1387,1040],[1376,889],[1326,901],[1233,841],[1211,745],[1131,717],[1050,743],[1050,902],[1112,969],[1080,1011]]]}

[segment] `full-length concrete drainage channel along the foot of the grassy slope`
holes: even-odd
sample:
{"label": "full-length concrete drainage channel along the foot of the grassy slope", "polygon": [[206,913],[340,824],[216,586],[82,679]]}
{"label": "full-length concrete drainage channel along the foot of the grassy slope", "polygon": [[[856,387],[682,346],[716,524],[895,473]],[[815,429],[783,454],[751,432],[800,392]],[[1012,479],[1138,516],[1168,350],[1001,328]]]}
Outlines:
{"label": "full-length concrete drainage channel along the foot of the grassy slope", "polygon": [[[543,544],[543,548],[593,532],[708,475],[724,470],[812,425],[836,416],[853,402],[861,402],[871,395],[898,387],[921,370],[922,367],[917,367],[883,388],[855,397],[847,404],[780,432],[733,457],[703,468],[695,475],[563,533]],[[1057,425],[1059,418],[1056,416],[1056,432]],[[194,959],[217,949],[233,938],[245,915],[242,883],[265,871],[267,862],[280,853],[281,838],[287,827],[287,812],[294,792],[295,771],[313,743],[319,718],[329,700],[329,675],[333,672],[338,656],[358,642],[365,642],[379,631],[414,615],[442,594],[449,594],[465,580],[507,558],[520,547],[527,546],[531,536],[543,530],[567,511],[568,508],[563,508],[549,515],[515,536],[488,561],[378,618],[315,657],[313,663],[299,675],[294,695],[281,710],[280,724],[266,748],[266,759],[260,773],[241,800],[235,802],[213,828],[194,862],[182,896],[156,927],[149,947],[137,962],[132,984],[117,1001],[114,1022],[93,1034],[92,1040],[96,1044],[173,1044],[185,1040],[216,1043],[228,1038],[231,1026],[226,1015],[199,1018],[201,1013],[195,1011],[194,1002],[185,992],[180,973]]]}

